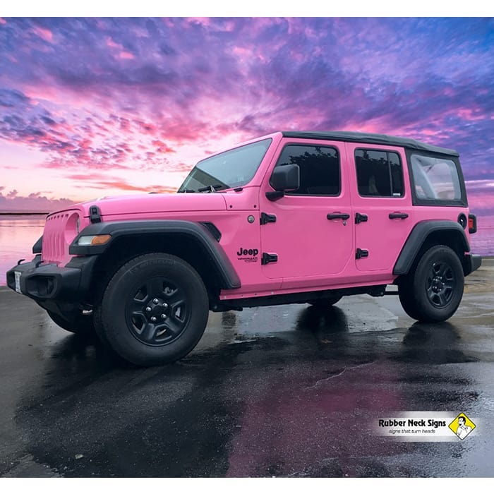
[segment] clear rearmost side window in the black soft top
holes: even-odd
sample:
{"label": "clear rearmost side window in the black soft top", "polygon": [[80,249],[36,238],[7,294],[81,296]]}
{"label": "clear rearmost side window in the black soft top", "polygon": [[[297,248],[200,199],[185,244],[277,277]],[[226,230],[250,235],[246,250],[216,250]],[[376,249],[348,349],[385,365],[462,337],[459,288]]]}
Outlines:
{"label": "clear rearmost side window in the black soft top", "polygon": [[411,155],[411,173],[418,199],[462,199],[457,167],[450,159]]}

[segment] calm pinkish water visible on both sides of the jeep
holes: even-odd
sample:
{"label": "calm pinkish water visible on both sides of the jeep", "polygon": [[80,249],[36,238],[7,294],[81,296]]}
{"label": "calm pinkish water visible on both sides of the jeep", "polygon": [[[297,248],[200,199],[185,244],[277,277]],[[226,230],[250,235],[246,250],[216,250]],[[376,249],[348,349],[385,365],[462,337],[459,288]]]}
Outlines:
{"label": "calm pinkish water visible on both sides of the jeep", "polygon": [[[44,216],[0,215],[0,285],[6,284],[6,272],[19,259],[31,260],[32,246],[43,234]],[[471,250],[481,255],[494,255],[494,224],[482,224],[471,236]]]}

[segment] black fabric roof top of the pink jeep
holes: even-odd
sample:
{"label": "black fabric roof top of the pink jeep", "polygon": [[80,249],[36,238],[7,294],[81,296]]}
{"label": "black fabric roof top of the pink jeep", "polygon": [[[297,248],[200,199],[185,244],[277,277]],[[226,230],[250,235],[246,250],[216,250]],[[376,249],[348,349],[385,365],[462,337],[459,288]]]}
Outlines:
{"label": "black fabric roof top of the pink jeep", "polygon": [[445,147],[433,146],[421,143],[418,140],[394,137],[386,134],[371,134],[364,132],[328,131],[328,132],[282,132],[283,137],[296,139],[320,139],[320,140],[344,140],[349,143],[384,144],[392,146],[402,146],[408,149],[440,153],[441,155],[459,156],[458,152]]}

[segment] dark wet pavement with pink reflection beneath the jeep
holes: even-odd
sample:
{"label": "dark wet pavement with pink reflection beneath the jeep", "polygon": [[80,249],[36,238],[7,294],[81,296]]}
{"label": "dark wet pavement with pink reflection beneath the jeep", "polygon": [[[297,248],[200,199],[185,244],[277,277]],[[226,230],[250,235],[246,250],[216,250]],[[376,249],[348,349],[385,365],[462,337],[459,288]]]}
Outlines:
{"label": "dark wet pavement with pink reflection beneath the jeep", "polygon": [[[396,296],[210,313],[179,363],[135,368],[0,289],[0,476],[493,476],[494,260],[447,323]],[[393,411],[481,419],[375,435]],[[456,439],[456,438],[454,438]]]}

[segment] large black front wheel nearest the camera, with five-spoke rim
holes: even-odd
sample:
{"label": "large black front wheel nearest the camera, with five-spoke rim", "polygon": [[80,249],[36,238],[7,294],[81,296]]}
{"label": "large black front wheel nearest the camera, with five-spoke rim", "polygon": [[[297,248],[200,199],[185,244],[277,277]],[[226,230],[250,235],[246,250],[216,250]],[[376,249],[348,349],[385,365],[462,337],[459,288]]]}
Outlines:
{"label": "large black front wheel nearest the camera, with five-spoke rim", "polygon": [[174,255],[140,255],[110,280],[96,309],[97,331],[123,359],[155,366],[181,359],[203,336],[203,280]]}

